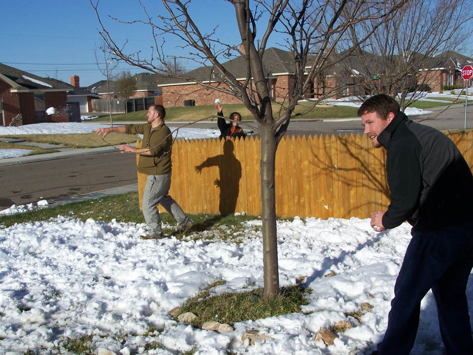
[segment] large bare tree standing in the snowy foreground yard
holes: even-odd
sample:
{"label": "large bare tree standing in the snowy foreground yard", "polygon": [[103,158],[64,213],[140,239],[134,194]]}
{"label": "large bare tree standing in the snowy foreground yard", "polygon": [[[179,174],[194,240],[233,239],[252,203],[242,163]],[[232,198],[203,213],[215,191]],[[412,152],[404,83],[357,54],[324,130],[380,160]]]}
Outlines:
{"label": "large bare tree standing in the snowy foreground yard", "polygon": [[[301,0],[296,5],[295,1],[290,0],[228,0],[229,5],[231,4],[235,10],[237,31],[244,51],[239,50],[240,43],[221,41],[216,36],[216,28],[210,33],[203,33],[190,13],[190,0],[162,0],[162,2],[168,14],[159,16],[154,22],[141,2],[144,19],[132,22],[117,19],[122,23],[139,22],[149,26],[154,43],[153,51],[150,57],[143,58],[139,53],[127,53],[123,43],[118,44],[114,41],[101,22],[98,1],[91,0],[101,22],[101,35],[114,56],[130,65],[163,74],[160,67],[154,65],[155,62],[162,64],[166,59],[162,38],[176,36],[182,41],[182,46],[193,54],[186,60],[208,65],[212,81],[190,77],[186,73],[164,74],[198,82],[209,90],[234,95],[253,114],[258,123],[261,139],[264,297],[272,298],[279,290],[274,179],[277,145],[287,130],[298,100],[303,99],[304,94],[311,92],[314,78],[332,64],[329,58],[337,51],[337,47],[346,48],[345,56],[353,50],[347,39],[348,29],[360,21],[372,20],[374,31],[387,18],[394,15],[404,0],[392,0],[389,6],[378,6],[378,11],[372,10],[372,4],[381,4],[380,1],[368,3],[366,0]],[[351,5],[351,15],[342,17],[341,14],[344,13],[347,4]],[[292,53],[290,62],[294,68],[294,87],[284,102],[279,103],[280,109],[273,111],[267,75],[270,68],[265,68],[263,56],[270,36],[276,32],[284,36],[285,46]],[[362,42],[360,39],[360,43]],[[242,80],[237,80],[222,62],[236,56],[242,56],[246,64],[247,75]],[[343,55],[338,60],[343,60]],[[307,110],[312,109],[327,95],[342,89],[341,86],[333,88],[314,100]]]}

